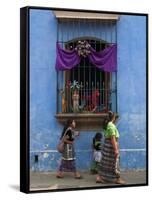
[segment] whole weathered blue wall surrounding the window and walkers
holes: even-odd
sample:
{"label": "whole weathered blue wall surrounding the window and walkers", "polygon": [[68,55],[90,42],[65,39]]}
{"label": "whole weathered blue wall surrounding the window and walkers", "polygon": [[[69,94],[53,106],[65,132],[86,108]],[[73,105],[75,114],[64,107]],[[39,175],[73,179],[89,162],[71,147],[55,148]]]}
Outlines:
{"label": "whole weathered blue wall surrounding the window and walkers", "polygon": [[[121,16],[118,21],[118,128],[121,167],[145,168],[145,18]],[[89,25],[90,27],[90,25]],[[84,35],[84,30],[81,34]],[[96,35],[96,27],[92,36]],[[137,34],[138,33],[138,34]],[[75,33],[74,37],[78,34]],[[86,33],[87,35],[87,33]],[[71,36],[72,38],[73,36]],[[113,35],[113,38],[115,36]],[[102,35],[104,38],[104,34]],[[66,40],[66,39],[65,39]],[[113,40],[113,39],[112,39]],[[55,171],[60,160],[56,144],[62,126],[56,114],[57,21],[48,10],[30,10],[30,164],[32,170]],[[90,167],[94,132],[76,140],[77,166]],[[34,156],[39,156],[35,163]]]}

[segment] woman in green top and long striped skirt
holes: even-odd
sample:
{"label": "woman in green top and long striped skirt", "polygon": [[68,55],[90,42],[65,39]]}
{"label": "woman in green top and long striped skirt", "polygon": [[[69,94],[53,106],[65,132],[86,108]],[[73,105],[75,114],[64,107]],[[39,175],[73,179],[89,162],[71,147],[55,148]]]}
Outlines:
{"label": "woman in green top and long striped skirt", "polygon": [[119,170],[119,132],[115,126],[116,114],[109,112],[109,117],[104,121],[103,129],[105,142],[102,151],[102,159],[98,166],[97,183],[113,182],[125,184],[120,178]]}

